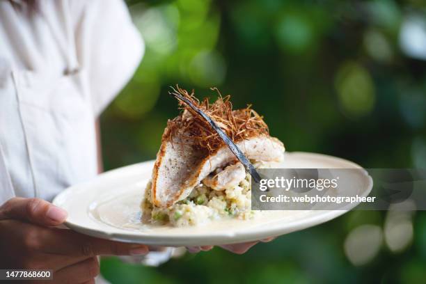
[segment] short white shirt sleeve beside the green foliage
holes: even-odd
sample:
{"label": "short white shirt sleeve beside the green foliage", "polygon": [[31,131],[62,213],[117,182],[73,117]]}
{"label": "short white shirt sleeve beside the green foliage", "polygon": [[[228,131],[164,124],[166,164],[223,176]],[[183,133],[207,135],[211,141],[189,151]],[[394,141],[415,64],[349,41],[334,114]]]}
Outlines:
{"label": "short white shirt sleeve beside the green foliage", "polygon": [[132,78],[145,46],[124,1],[83,3],[73,13],[80,15],[75,26],[77,57],[88,74],[93,112],[99,116]]}

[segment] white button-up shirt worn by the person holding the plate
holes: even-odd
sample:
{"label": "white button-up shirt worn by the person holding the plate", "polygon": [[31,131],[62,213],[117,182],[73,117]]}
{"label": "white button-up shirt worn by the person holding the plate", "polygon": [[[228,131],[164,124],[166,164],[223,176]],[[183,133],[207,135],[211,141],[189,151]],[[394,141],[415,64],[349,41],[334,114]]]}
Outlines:
{"label": "white button-up shirt worn by the person holding the plate", "polygon": [[0,0],[0,205],[97,173],[95,119],[143,42],[121,0]]}

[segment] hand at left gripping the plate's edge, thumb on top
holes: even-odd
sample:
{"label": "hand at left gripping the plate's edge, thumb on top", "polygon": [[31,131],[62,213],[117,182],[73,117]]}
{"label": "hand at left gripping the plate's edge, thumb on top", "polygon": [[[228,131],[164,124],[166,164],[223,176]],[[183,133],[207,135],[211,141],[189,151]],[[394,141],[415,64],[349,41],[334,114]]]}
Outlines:
{"label": "hand at left gripping the plate's edge, thumb on top", "polygon": [[97,255],[143,255],[141,244],[111,242],[52,228],[66,219],[38,198],[12,198],[0,207],[0,268],[52,269],[53,283],[94,283]]}

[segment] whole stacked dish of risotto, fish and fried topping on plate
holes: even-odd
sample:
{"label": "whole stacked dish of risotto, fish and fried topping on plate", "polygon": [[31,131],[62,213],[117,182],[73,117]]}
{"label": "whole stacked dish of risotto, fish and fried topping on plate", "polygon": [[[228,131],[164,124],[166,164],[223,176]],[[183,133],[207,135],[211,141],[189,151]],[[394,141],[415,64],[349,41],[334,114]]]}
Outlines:
{"label": "whole stacked dish of risotto, fish and fried topping on plate", "polygon": [[[255,168],[283,161],[283,143],[269,136],[266,123],[251,106],[232,110],[230,96],[222,97],[219,91],[213,103],[200,102],[179,87],[173,92],[211,118]],[[143,196],[143,221],[180,227],[253,218],[250,173],[199,112],[183,100],[179,106],[180,115],[168,120]]]}

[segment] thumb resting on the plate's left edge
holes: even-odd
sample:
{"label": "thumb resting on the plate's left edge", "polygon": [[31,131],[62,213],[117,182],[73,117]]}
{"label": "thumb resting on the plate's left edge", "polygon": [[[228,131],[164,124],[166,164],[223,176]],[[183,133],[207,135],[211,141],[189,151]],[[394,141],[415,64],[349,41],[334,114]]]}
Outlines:
{"label": "thumb resting on the plate's left edge", "polygon": [[15,197],[0,207],[0,220],[18,219],[41,226],[57,226],[67,215],[65,210],[40,198]]}

